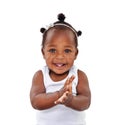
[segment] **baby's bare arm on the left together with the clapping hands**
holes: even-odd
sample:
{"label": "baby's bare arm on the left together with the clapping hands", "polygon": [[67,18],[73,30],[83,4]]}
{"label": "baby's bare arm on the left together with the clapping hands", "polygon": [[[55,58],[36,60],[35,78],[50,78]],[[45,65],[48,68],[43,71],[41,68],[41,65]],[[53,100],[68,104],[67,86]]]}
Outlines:
{"label": "baby's bare arm on the left together with the clapping hands", "polygon": [[72,81],[74,76],[69,78],[64,87],[53,93],[46,93],[43,82],[42,71],[38,71],[33,76],[32,87],[30,90],[30,101],[33,108],[44,110],[55,106],[56,104],[67,102],[72,93]]}

